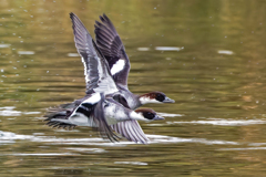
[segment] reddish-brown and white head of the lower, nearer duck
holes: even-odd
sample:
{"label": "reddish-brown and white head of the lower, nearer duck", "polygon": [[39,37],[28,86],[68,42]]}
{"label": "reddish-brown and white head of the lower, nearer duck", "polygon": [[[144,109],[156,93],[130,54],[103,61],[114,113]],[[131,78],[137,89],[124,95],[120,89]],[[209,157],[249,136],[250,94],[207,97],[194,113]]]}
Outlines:
{"label": "reddish-brown and white head of the lower, nearer duck", "polygon": [[131,117],[137,121],[158,121],[164,119],[151,108],[137,108],[131,113]]}

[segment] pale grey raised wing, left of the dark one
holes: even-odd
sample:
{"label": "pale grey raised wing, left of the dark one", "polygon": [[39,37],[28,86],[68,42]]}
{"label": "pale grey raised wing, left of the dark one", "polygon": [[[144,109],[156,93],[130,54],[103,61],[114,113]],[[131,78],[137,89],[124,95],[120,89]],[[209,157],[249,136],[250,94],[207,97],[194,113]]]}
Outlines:
{"label": "pale grey raised wing, left of the dark one", "polygon": [[104,93],[104,95],[117,92],[116,84],[111,75],[109,64],[101,51],[98,49],[91,34],[81,20],[70,13],[74,33],[75,48],[84,64],[86,81],[86,93]]}

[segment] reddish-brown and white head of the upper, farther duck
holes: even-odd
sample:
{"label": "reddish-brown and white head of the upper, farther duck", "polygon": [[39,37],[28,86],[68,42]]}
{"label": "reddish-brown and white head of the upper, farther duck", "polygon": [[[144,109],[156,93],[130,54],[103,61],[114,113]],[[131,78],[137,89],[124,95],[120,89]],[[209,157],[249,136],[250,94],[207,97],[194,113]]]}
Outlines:
{"label": "reddish-brown and white head of the upper, farther duck", "polygon": [[151,92],[140,96],[141,104],[147,103],[174,103],[174,100],[167,97],[163,92]]}

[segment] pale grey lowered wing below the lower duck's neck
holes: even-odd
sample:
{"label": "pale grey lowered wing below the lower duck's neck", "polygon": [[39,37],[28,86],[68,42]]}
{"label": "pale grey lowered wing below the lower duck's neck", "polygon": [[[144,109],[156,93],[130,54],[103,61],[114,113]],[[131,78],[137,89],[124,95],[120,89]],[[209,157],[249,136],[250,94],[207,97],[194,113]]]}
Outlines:
{"label": "pale grey lowered wing below the lower duck's neck", "polygon": [[111,125],[111,127],[113,128],[113,131],[121,134],[123,137],[131,142],[140,142],[142,144],[147,144],[149,142],[149,138],[146,137],[140,124],[135,119],[120,122],[117,124]]}

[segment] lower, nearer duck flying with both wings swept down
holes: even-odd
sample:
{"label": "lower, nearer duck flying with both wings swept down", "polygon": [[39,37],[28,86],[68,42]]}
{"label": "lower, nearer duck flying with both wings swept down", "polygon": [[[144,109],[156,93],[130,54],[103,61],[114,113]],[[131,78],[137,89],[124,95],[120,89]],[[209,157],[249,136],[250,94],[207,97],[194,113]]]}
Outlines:
{"label": "lower, nearer duck flying with both wings swept down", "polygon": [[[119,142],[116,132],[130,142],[147,144],[150,139],[142,131],[137,121],[164,119],[151,108],[132,111],[112,97],[104,97],[103,93],[93,93],[72,111],[57,110],[45,119],[48,126],[53,128],[74,128],[75,126],[89,126],[98,131],[101,137],[111,142]],[[114,132],[113,132],[114,131]]]}

